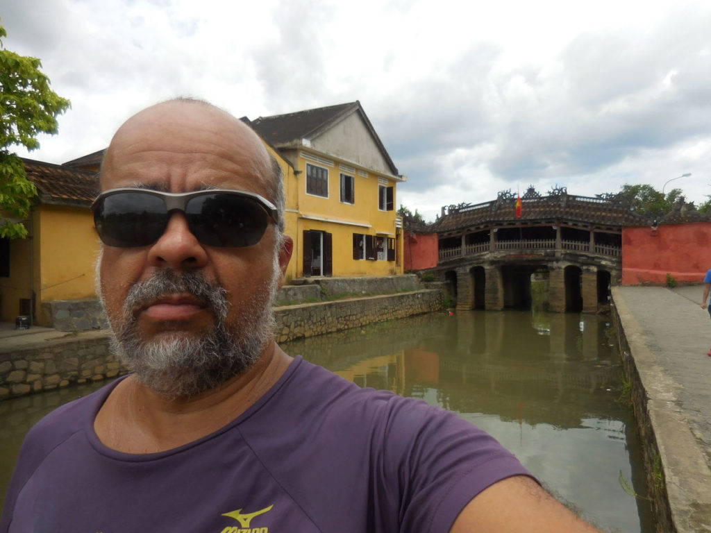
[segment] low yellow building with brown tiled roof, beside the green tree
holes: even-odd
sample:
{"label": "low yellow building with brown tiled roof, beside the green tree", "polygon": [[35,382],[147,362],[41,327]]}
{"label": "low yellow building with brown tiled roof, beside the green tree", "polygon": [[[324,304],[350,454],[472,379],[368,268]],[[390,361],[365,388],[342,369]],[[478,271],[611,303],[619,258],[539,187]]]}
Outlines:
{"label": "low yellow building with brown tiled roof, beside the green tree", "polygon": [[94,172],[23,159],[37,189],[26,239],[0,239],[0,320],[51,325],[48,303],[96,298],[99,238],[89,210]]}

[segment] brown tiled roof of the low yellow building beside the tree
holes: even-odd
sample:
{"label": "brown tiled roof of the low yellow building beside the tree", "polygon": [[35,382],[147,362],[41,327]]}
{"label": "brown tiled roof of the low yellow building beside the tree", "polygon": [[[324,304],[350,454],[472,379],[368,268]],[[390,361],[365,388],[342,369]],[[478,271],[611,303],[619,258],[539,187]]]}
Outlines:
{"label": "brown tiled roof of the low yellow building beside the tree", "polygon": [[97,173],[23,158],[27,178],[42,204],[89,207],[99,190]]}

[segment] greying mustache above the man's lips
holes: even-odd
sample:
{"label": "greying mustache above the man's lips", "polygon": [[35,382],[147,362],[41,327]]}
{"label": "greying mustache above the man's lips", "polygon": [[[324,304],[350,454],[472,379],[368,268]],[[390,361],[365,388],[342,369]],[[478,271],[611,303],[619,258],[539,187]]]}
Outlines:
{"label": "greying mustache above the man's lips", "polygon": [[171,294],[190,294],[198,298],[217,318],[224,320],[230,306],[227,291],[217,281],[208,281],[196,272],[159,270],[149,279],[137,281],[126,297],[124,317],[131,320],[151,301]]}

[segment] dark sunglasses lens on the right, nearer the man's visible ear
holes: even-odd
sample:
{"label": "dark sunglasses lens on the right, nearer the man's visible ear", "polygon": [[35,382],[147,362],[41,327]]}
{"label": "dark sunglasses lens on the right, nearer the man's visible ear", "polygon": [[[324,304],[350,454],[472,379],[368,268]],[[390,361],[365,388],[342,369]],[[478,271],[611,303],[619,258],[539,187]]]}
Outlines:
{"label": "dark sunglasses lens on the right, nearer the man's visible ear", "polygon": [[269,215],[257,200],[229,193],[191,198],[185,216],[193,235],[208,246],[253,246],[269,225]]}

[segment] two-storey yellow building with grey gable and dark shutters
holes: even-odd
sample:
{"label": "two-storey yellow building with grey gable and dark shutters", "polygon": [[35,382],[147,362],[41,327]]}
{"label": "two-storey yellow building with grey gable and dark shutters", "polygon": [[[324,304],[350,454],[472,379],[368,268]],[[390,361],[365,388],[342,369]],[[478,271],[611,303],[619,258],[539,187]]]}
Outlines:
{"label": "two-storey yellow building with grey gable and dark shutters", "polygon": [[360,102],[248,123],[282,156],[286,232],[294,239],[287,280],[402,274],[395,205],[405,177]]}

